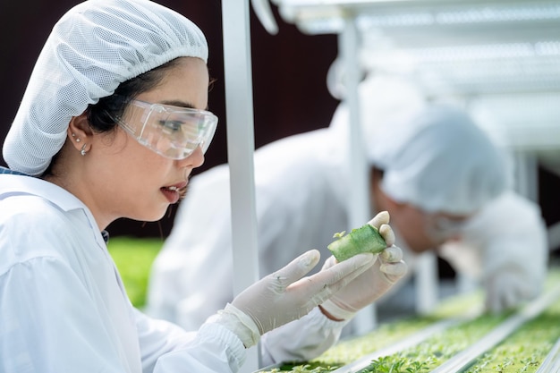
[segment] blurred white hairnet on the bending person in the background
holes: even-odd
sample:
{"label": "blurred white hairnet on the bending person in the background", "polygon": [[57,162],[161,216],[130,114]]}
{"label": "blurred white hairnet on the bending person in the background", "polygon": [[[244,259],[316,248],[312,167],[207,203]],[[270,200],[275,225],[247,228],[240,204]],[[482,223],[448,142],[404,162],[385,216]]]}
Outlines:
{"label": "blurred white hairnet on the bending person in the background", "polygon": [[383,191],[428,212],[471,214],[510,182],[505,154],[453,106],[427,106],[386,123],[369,150],[385,171]]}

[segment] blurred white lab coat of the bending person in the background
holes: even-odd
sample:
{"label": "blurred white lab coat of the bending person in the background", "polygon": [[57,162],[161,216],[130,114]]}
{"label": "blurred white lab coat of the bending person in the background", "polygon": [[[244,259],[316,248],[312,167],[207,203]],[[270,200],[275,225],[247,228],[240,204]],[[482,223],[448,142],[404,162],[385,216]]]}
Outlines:
{"label": "blurred white lab coat of the bending person in the background", "polygon": [[[256,151],[261,276],[284,266],[304,250],[318,249],[322,258],[327,259],[327,244],[333,241],[333,233],[352,228],[348,226],[349,206],[345,199],[352,182],[346,174],[345,143],[344,129],[331,126],[278,140]],[[483,241],[471,240],[479,250],[462,250],[461,255],[474,253],[481,263],[489,259],[501,262],[508,257],[524,258],[522,253],[530,248],[536,259],[527,267],[525,276],[538,288],[546,270],[543,258],[547,256],[546,231],[539,208],[519,197],[504,199],[495,208],[490,206],[487,208],[492,211],[491,216],[471,232],[471,237],[477,237],[477,230],[485,233]],[[503,226],[501,222],[513,216],[512,208],[515,221]],[[207,231],[208,226],[213,234],[199,234]],[[517,244],[501,244],[511,242],[512,237],[518,240]],[[412,267],[411,274],[416,258],[406,250],[398,233],[396,238],[397,245],[403,247],[404,260]],[[148,313],[196,329],[208,315],[232,299],[231,250],[228,167],[218,165],[191,180],[187,199],[177,211],[174,229],[152,267]],[[497,255],[498,250],[502,255]],[[450,258],[458,271],[465,269],[458,265],[461,255],[455,252],[454,258]],[[491,271],[492,267],[486,265],[483,269]]]}

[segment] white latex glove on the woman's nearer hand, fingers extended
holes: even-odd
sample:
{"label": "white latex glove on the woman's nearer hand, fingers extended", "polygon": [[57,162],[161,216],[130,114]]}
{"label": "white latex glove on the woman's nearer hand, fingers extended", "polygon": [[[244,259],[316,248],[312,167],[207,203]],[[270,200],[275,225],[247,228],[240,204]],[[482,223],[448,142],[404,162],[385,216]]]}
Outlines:
{"label": "white latex glove on the woman's nearer hand, fingers extended", "polygon": [[360,254],[304,277],[319,259],[318,250],[309,250],[293,259],[237,295],[214,320],[238,335],[245,347],[250,347],[259,341],[260,335],[307,315],[375,261],[373,254]]}

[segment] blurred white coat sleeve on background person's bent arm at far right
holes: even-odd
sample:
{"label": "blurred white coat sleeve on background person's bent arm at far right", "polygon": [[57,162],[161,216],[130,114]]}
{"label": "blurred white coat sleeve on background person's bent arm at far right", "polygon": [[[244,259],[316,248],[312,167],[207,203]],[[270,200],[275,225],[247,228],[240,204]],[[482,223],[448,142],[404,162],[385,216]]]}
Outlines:
{"label": "blurred white coat sleeve on background person's bent arm at far right", "polygon": [[492,276],[513,271],[527,284],[529,298],[542,291],[547,274],[546,225],[540,208],[521,196],[506,191],[472,218],[462,231],[462,240],[446,242],[439,250],[460,274],[488,288]]}

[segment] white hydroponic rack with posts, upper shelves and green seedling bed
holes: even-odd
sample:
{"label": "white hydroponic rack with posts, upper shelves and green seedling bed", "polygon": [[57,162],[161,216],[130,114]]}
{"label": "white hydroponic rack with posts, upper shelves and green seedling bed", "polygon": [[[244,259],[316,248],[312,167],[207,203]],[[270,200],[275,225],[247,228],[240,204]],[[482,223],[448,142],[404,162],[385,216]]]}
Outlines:
{"label": "white hydroponic rack with posts, upper shelves and green seedling bed", "polygon": [[[234,3],[223,5],[235,8]],[[267,30],[282,32],[267,0],[251,3]],[[368,199],[366,167],[361,162],[363,149],[358,141],[361,102],[357,88],[361,72],[400,74],[418,84],[428,97],[461,102],[496,142],[512,153],[517,189],[528,198],[538,198],[538,163],[560,174],[559,1],[273,0],[273,4],[284,21],[297,25],[306,34],[338,35],[344,101],[351,112],[349,167],[358,180],[349,196],[351,226],[359,226],[367,219],[360,207],[368,205],[364,203]],[[227,10],[224,5],[224,13],[235,13],[233,8]],[[239,18],[224,18],[239,23]],[[233,45],[231,35],[225,38],[230,38],[229,44]],[[240,65],[225,57],[226,65]],[[240,77],[248,77],[240,85],[250,95],[246,84],[250,73]],[[252,113],[252,108],[246,112]],[[227,115],[229,123],[229,111]],[[229,144],[228,141],[228,148]],[[243,159],[232,159],[234,164],[244,165]],[[250,181],[250,177],[251,174],[245,180]],[[250,219],[237,221],[254,226]],[[550,235],[550,245],[556,247],[560,244],[560,226],[550,231],[559,233]],[[250,230],[250,236],[253,232]],[[240,253],[237,258],[247,259],[251,252],[254,254],[254,245],[250,248],[250,252]],[[433,273],[433,260],[427,263],[424,273]],[[433,293],[430,288],[436,285],[424,282],[419,292]],[[431,304],[436,313],[375,326],[370,333],[343,341],[318,360],[292,370],[560,372],[560,300],[556,288],[548,291],[527,308],[499,317],[476,312],[442,315],[437,313],[442,305]],[[429,306],[423,309],[429,310]],[[280,371],[281,367],[268,369],[259,371]]]}

